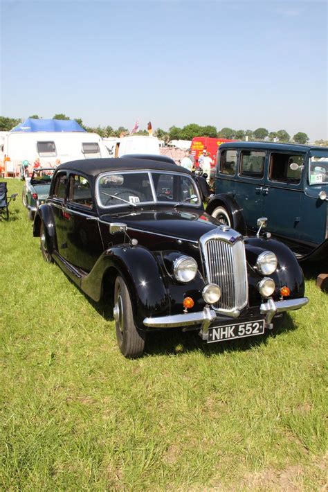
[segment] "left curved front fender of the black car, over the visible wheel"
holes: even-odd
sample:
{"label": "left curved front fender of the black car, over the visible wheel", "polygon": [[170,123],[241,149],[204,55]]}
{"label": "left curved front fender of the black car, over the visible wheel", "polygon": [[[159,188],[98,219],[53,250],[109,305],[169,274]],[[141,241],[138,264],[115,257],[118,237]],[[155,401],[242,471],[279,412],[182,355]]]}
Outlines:
{"label": "left curved front fender of the black car, over the visible wheel", "polygon": [[124,277],[131,297],[136,326],[143,319],[162,315],[170,308],[169,296],[163,281],[163,272],[154,255],[143,246],[118,245],[107,249],[81,281],[82,290],[94,301],[102,295],[102,281],[109,270]]}

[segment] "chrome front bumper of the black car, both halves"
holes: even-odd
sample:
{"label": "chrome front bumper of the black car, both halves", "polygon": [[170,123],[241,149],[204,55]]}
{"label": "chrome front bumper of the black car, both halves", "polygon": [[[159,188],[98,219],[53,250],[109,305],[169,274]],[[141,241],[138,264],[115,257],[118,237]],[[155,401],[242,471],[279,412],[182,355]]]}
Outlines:
{"label": "chrome front bumper of the black car, both halves", "polygon": [[[307,297],[300,299],[289,299],[286,301],[273,301],[268,299],[262,303],[259,312],[265,315],[266,328],[272,328],[271,321],[277,313],[300,309],[309,302]],[[147,317],[143,324],[147,328],[183,328],[185,326],[201,325],[202,333],[207,333],[210,324],[217,319],[217,313],[210,306],[205,306],[202,311],[197,313],[184,313],[182,315]]]}

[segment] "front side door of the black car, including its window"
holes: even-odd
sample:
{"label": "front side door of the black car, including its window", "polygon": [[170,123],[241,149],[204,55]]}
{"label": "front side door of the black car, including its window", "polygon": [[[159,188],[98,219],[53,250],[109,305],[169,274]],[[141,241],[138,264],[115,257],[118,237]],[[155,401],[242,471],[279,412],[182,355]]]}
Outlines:
{"label": "front side door of the black car, including its window", "polygon": [[69,176],[65,207],[66,248],[64,258],[90,272],[104,251],[90,179],[78,173]]}

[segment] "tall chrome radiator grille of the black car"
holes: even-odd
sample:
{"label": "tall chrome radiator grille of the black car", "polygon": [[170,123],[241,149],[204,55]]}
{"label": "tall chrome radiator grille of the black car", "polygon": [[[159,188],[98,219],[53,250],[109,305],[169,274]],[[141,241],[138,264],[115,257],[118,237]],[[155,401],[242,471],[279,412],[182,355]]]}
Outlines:
{"label": "tall chrome radiator grille of the black car", "polygon": [[232,229],[210,231],[201,238],[208,282],[221,287],[221,299],[213,307],[227,313],[244,308],[248,301],[245,247]]}

